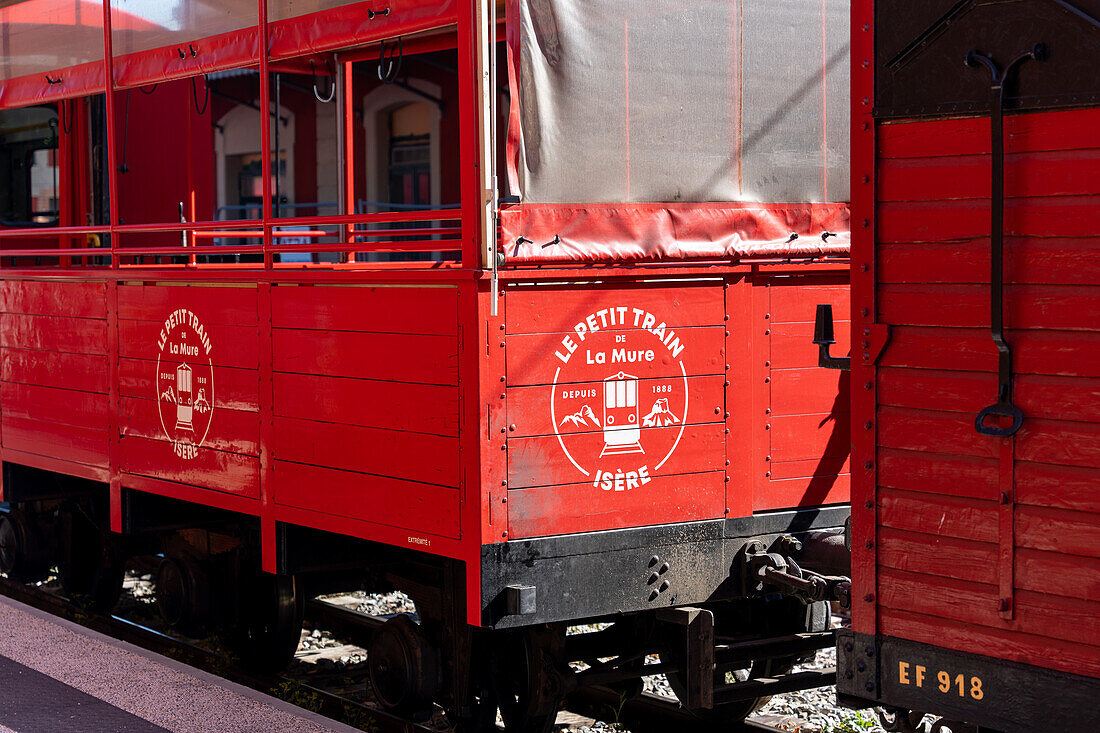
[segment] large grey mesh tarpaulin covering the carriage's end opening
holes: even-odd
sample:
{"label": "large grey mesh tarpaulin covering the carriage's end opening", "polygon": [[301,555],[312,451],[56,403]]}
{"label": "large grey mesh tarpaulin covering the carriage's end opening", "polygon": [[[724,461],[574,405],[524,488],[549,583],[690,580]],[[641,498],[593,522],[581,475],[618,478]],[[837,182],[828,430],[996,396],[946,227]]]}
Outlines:
{"label": "large grey mesh tarpaulin covering the carriage's end opening", "polygon": [[846,0],[513,8],[525,203],[848,200]]}

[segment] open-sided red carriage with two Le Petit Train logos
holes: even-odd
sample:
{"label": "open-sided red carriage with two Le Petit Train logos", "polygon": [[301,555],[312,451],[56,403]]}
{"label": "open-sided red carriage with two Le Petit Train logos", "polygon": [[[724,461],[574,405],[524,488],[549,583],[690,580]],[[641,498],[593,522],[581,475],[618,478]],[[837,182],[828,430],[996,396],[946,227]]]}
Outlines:
{"label": "open-sided red carriage with two Le Petit Train logos", "polygon": [[516,731],[649,653],[701,719],[829,681],[845,4],[170,8],[0,8],[3,569],[161,555],[254,661],[397,587],[383,702]]}

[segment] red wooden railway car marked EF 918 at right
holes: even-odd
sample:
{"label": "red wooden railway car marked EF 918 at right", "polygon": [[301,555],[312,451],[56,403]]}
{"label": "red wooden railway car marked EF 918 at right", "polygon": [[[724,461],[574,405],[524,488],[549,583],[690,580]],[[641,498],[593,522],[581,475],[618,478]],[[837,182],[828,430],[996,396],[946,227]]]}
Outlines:
{"label": "red wooden railway car marked EF 918 at right", "polygon": [[1100,726],[1098,19],[856,8],[853,704]]}

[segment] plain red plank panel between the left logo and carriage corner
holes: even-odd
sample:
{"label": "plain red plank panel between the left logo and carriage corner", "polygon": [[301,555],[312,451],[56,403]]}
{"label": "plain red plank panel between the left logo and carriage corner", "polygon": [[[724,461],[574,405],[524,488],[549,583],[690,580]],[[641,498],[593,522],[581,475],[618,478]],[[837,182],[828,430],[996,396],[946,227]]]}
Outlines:
{"label": "plain red plank panel between the left logo and carriage corner", "polygon": [[272,288],[276,506],[460,536],[453,287]]}

